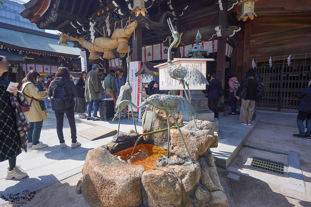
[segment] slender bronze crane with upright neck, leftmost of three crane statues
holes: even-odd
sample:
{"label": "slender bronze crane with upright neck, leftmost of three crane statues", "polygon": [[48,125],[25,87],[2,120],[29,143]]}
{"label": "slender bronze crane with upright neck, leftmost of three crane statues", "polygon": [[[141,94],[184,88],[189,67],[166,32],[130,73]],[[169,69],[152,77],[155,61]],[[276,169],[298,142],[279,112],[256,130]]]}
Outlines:
{"label": "slender bronze crane with upright neck, leftmost of three crane statues", "polygon": [[[130,53],[130,47],[128,46],[128,57],[126,58],[126,62],[128,64],[128,75],[127,75],[127,79],[126,79],[126,83],[124,84],[124,86],[121,86],[120,88],[120,94],[118,96],[118,99],[117,99],[117,102],[116,102],[116,105],[118,106],[118,104],[121,102],[121,101],[124,101],[124,100],[128,100],[128,101],[131,101],[132,100],[132,91],[133,91],[133,88],[130,84],[130,59],[129,59],[129,53]],[[125,108],[125,107],[124,107]],[[123,108],[123,109],[124,109]],[[136,134],[137,133],[137,129],[136,129],[136,124],[135,124],[135,120],[134,120],[134,113],[133,113],[133,109],[132,109],[132,106],[131,106],[131,110],[132,110],[132,117],[133,117],[133,122],[134,122],[134,126],[135,126],[135,131],[136,131]],[[118,114],[118,113],[117,113]],[[114,116],[113,118],[113,121],[115,121],[115,119],[117,118],[117,114]],[[119,129],[120,129],[120,119],[121,119],[121,114],[119,115],[119,126],[118,126],[118,134],[117,134],[117,137],[119,137]]]}

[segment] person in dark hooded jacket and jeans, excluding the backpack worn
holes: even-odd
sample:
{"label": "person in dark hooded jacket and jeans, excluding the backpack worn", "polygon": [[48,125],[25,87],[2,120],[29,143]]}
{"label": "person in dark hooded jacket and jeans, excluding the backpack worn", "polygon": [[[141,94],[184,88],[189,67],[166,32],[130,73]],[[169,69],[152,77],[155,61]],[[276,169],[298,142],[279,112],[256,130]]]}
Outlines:
{"label": "person in dark hooded jacket and jeans, excluding the backpack worn", "polygon": [[74,109],[75,107],[74,98],[78,96],[78,92],[74,82],[70,81],[68,70],[65,67],[58,68],[57,73],[55,74],[55,78],[49,86],[49,97],[52,97],[54,95],[53,94],[54,88],[62,85],[65,88],[67,96],[70,97],[71,104],[67,109],[57,109],[55,108],[55,105],[53,106],[52,104],[52,108],[54,107],[55,109],[57,135],[60,142],[60,147],[65,148],[66,144],[63,134],[63,125],[64,125],[64,114],[66,113],[71,130],[71,140],[72,140],[71,148],[76,148],[77,146],[80,145],[80,143],[77,141],[77,128],[75,122],[75,109]]}

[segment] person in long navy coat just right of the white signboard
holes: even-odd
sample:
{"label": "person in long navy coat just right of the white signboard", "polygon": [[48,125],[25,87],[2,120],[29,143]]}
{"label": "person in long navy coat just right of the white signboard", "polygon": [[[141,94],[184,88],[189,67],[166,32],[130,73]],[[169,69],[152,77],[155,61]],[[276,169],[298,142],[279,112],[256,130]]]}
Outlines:
{"label": "person in long navy coat just right of the white signboard", "polygon": [[219,115],[219,87],[220,81],[216,79],[216,73],[211,75],[211,80],[208,82],[209,85],[206,86],[208,92],[208,102],[211,105],[211,110],[214,112],[214,117],[217,120]]}

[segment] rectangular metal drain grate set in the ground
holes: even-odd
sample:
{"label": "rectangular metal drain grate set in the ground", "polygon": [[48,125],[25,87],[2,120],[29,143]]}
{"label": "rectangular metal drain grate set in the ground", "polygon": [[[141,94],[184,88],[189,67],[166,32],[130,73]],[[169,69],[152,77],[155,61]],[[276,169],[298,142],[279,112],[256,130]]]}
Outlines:
{"label": "rectangular metal drain grate set in the ground", "polygon": [[277,161],[269,160],[266,158],[252,156],[248,165],[250,167],[257,168],[260,170],[284,175],[284,163],[283,162],[277,162]]}

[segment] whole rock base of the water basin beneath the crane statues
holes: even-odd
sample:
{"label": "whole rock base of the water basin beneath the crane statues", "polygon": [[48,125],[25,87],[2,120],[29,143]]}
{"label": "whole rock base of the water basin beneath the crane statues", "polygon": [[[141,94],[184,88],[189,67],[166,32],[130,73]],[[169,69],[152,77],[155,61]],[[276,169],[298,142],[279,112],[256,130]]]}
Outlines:
{"label": "whole rock base of the water basin beneath the crane statues", "polygon": [[[213,125],[200,120],[197,125],[202,131],[192,133],[193,121],[182,128],[196,162],[187,157],[176,129],[170,133],[174,155],[156,160],[155,168],[121,162],[113,153],[133,147],[137,134],[131,130],[88,152],[76,192],[94,207],[229,207],[209,149],[217,146]],[[138,143],[149,144],[145,141]]]}

